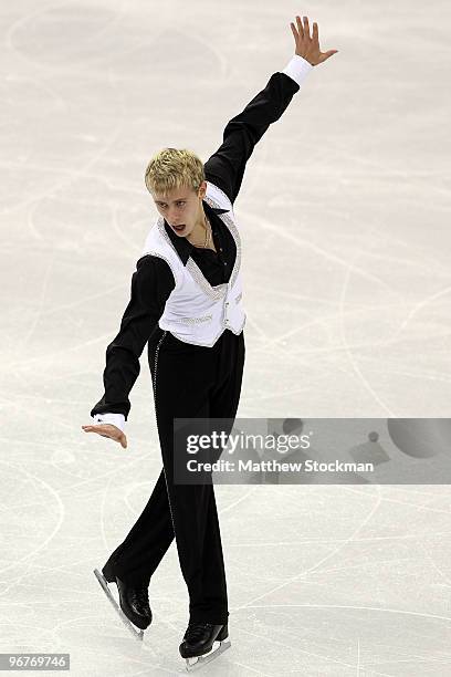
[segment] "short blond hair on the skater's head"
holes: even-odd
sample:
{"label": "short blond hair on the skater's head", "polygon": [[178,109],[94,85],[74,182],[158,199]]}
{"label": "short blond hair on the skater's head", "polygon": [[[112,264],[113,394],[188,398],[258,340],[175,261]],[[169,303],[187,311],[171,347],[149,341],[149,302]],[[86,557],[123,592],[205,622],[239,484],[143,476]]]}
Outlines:
{"label": "short blond hair on the skater's head", "polygon": [[162,148],[147,165],[144,180],[150,194],[162,197],[181,187],[197,191],[206,180],[203,163],[188,148]]}

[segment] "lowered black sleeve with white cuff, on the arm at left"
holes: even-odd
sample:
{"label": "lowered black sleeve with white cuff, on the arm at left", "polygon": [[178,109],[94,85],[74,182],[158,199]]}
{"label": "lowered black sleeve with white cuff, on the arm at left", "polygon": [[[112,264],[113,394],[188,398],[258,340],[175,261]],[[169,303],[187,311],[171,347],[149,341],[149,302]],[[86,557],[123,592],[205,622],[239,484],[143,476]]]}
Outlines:
{"label": "lowered black sleeve with white cuff, on the arm at left", "polygon": [[132,275],[130,300],[119,332],[106,348],[103,374],[105,392],[91,410],[95,420],[122,420],[108,416],[104,419],[103,416],[96,416],[98,414],[122,414],[127,420],[130,410],[128,395],[139,375],[139,357],[158,325],[174,287],[174,277],[166,261],[151,254],[137,261],[136,271]]}

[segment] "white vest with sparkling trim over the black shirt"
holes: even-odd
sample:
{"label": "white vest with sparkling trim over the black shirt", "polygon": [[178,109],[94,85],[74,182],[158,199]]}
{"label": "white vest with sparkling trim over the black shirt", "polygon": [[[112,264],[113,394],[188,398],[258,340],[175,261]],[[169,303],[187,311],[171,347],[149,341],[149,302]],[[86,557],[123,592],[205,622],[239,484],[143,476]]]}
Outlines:
{"label": "white vest with sparkling trim over the black shirt", "polygon": [[213,209],[228,210],[218,216],[230,230],[237,246],[237,258],[229,282],[211,287],[191,257],[183,265],[165,230],[162,217],[150,228],[141,257],[153,254],[165,259],[176,282],[158,321],[160,329],[186,343],[212,347],[226,329],[240,334],[247,315],[241,302],[241,238],[233,206],[227,195],[210,181],[207,181],[204,200]]}

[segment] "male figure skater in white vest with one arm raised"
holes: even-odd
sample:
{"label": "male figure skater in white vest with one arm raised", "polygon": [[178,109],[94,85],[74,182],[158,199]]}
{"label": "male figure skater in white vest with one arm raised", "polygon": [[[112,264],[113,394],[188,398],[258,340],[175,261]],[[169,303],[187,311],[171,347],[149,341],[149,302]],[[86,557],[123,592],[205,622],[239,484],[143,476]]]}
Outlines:
{"label": "male figure skater in white vest with one arm raised", "polygon": [[130,532],[95,573],[112,601],[108,583],[117,585],[117,611],[143,638],[153,617],[149,582],[176,539],[189,594],[179,647],[187,669],[230,646],[229,608],[213,486],[174,481],[172,425],[175,418],[233,421],[237,414],[245,313],[233,205],[255,144],[312,67],[337,52],[321,52],[318,27],[313,23],[311,37],[307,17],[295,21],[294,56],[227,124],[223,143],[204,165],[191,150],[176,148],[164,148],[148,164],[145,183],[159,218],[136,263],[119,333],[106,348],[105,392],[91,410],[96,423],[82,426],[126,448],[128,395],[147,343],[162,469]]}

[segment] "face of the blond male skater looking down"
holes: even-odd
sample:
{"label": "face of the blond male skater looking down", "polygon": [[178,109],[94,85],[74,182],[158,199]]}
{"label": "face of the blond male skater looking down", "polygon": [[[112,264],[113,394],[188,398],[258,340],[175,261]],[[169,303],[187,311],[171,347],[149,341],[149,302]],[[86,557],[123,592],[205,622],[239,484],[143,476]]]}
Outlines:
{"label": "face of the blond male skater looking down", "polygon": [[[203,181],[198,191],[185,187],[175,189],[167,196],[153,194],[159,213],[178,236],[186,238],[201,220],[201,200],[206,187]],[[177,228],[178,226],[180,228]]]}

